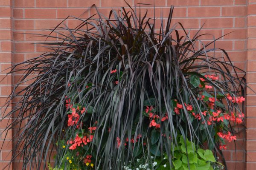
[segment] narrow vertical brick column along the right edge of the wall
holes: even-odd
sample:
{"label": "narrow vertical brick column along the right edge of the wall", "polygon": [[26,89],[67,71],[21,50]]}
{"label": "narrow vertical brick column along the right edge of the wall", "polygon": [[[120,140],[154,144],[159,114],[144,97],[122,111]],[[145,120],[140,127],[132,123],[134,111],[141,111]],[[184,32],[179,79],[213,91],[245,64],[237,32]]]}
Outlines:
{"label": "narrow vertical brick column along the right edge of the wall", "polygon": [[[256,0],[247,6],[247,83],[256,91]],[[246,165],[256,167],[256,94],[247,88],[246,104]]]}

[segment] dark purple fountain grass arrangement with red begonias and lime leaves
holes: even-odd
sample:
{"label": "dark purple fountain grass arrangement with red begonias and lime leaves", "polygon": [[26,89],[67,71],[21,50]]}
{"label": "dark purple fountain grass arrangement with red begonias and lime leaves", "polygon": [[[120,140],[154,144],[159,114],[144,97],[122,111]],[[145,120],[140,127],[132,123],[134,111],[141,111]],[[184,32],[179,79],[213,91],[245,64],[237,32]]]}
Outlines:
{"label": "dark purple fountain grass arrangement with red begonias and lime leaves", "polygon": [[224,168],[216,154],[243,124],[244,77],[224,49],[209,48],[219,38],[189,37],[171,26],[172,13],[158,29],[133,8],[53,29],[62,41],[44,43],[52,52],[10,72],[24,72],[5,105],[18,98],[5,114],[15,113],[6,127],[15,128],[12,160],[49,170]]}

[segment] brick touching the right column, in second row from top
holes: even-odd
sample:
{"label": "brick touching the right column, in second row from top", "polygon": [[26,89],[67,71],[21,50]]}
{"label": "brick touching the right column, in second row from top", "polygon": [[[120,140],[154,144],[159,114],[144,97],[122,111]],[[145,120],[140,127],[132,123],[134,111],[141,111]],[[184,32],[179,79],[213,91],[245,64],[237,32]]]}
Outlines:
{"label": "brick touching the right column, in second row from top", "polygon": [[222,16],[245,16],[247,14],[246,6],[227,6],[222,7]]}

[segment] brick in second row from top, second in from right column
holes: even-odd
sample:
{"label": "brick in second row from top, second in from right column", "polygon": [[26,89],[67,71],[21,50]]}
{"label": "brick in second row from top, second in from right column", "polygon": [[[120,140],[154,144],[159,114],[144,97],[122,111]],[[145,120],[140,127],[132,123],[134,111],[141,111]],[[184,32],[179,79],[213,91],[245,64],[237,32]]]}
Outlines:
{"label": "brick in second row from top, second in from right column", "polygon": [[220,7],[189,7],[188,17],[218,17]]}

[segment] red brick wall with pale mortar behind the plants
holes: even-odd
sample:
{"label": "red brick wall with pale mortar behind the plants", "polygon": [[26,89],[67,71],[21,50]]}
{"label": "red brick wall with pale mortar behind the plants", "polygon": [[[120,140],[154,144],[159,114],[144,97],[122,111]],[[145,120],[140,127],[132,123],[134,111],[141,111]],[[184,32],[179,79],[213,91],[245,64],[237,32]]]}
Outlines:
{"label": "red brick wall with pale mortar behind the plants", "polygon": [[[153,0],[126,0],[131,6],[137,3],[153,4]],[[247,2],[249,1],[249,2]],[[108,14],[111,8],[127,6],[123,0],[0,0],[0,79],[5,76],[5,68],[12,63],[35,57],[46,51],[41,45],[32,42],[44,41],[42,37],[34,37],[26,33],[48,34],[47,28],[54,28],[68,15],[86,18],[95,13],[95,9],[85,12],[91,5],[99,7],[99,11]],[[224,48],[230,55],[234,65],[242,70],[247,70],[247,81],[256,90],[256,0],[155,0],[156,17],[168,17],[169,6],[174,5],[173,22],[181,22],[185,28],[191,28],[190,34],[195,34],[204,23],[201,33],[210,33],[220,37],[229,34],[216,43],[216,47]],[[143,6],[153,16],[152,6]],[[84,14],[83,14],[84,13]],[[81,15],[82,14],[82,15]],[[76,20],[67,20],[67,26],[77,26]],[[22,34],[20,34],[22,33]],[[23,34],[25,33],[25,34]],[[202,37],[203,42],[212,40],[212,36]],[[49,39],[48,41],[54,41]],[[221,53],[217,52],[217,55]],[[248,62],[247,62],[248,61]],[[247,68],[247,69],[246,69]],[[0,95],[6,96],[12,90],[12,85],[17,82],[20,75],[7,77],[0,83]],[[26,86],[26,84],[24,85]],[[0,99],[3,105],[5,99]],[[224,151],[230,170],[250,170],[256,165],[256,95],[247,91],[247,140],[244,133],[239,133],[237,151],[234,144],[229,150]],[[2,111],[3,112],[3,111]],[[0,122],[0,128],[8,122]],[[1,129],[0,129],[1,130]],[[11,139],[12,132],[8,134]],[[0,138],[0,144],[1,144]],[[6,143],[6,150],[0,153],[0,169],[10,159],[11,144]],[[247,155],[244,153],[247,150]],[[235,162],[237,163],[235,164]],[[14,162],[13,169],[18,169]],[[246,167],[247,166],[247,167]]]}

